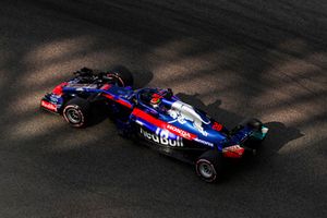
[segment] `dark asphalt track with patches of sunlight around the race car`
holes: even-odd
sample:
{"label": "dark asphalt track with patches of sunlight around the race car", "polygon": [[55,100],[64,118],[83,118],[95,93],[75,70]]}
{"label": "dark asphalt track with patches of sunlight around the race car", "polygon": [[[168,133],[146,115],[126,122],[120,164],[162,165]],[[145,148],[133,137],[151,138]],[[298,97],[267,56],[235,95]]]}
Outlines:
{"label": "dark asphalt track with patches of sunlight around the race car", "polygon": [[[326,1],[1,1],[0,217],[327,217]],[[131,69],[233,126],[269,128],[207,184],[39,99],[84,65]]]}

